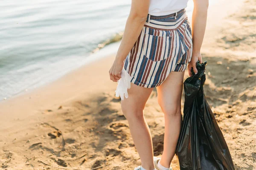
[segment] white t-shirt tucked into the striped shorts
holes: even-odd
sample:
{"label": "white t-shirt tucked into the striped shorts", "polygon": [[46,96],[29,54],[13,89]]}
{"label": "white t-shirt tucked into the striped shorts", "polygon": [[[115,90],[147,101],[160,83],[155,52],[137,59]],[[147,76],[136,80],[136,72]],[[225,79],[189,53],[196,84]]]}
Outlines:
{"label": "white t-shirt tucked into the striped shorts", "polygon": [[168,15],[186,8],[189,0],[150,0],[148,14]]}

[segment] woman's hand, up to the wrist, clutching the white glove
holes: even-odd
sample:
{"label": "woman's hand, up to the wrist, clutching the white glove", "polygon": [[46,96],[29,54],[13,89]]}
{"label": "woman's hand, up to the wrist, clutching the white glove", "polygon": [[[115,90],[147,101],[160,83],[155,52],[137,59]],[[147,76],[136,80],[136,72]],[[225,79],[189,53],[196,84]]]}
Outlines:
{"label": "woman's hand, up to the wrist, clutching the white glove", "polygon": [[122,68],[124,66],[124,61],[116,58],[113,62],[112,67],[110,68],[109,77],[113,82],[117,82],[121,78]]}

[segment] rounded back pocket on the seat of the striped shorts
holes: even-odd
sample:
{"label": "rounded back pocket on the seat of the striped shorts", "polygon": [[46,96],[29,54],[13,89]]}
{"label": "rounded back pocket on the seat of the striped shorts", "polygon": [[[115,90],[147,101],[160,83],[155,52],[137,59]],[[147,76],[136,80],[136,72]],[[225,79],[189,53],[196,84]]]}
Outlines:
{"label": "rounded back pocket on the seat of the striped shorts", "polygon": [[153,61],[160,61],[170,56],[172,37],[144,35],[143,53]]}

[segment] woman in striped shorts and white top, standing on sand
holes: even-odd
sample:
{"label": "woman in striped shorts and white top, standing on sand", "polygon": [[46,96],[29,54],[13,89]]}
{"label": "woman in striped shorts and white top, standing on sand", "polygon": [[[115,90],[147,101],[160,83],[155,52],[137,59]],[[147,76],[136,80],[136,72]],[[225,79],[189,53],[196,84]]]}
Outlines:
{"label": "woman in striped shorts and white top, standing on sand", "polygon": [[[129,97],[121,101],[141,159],[134,170],[171,170],[182,122],[181,95],[187,66],[195,73],[207,21],[208,0],[194,0],[192,29],[188,0],[132,0],[122,42],[109,71],[116,82],[124,68],[131,77]],[[164,113],[163,155],[153,157],[151,134],[143,109],[153,88]]]}

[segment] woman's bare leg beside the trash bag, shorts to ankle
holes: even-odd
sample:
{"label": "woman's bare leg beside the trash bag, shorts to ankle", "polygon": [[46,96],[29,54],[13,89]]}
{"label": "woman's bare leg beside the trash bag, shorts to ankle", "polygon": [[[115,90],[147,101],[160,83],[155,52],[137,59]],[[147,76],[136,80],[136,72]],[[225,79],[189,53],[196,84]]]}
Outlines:
{"label": "woman's bare leg beside the trash bag, shorts to ankle", "polygon": [[181,95],[183,89],[183,72],[172,71],[166,80],[157,87],[157,100],[162,108],[165,119],[163,155],[160,164],[169,168],[175,155],[177,140],[180,133]]}

